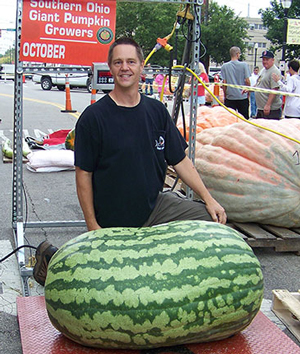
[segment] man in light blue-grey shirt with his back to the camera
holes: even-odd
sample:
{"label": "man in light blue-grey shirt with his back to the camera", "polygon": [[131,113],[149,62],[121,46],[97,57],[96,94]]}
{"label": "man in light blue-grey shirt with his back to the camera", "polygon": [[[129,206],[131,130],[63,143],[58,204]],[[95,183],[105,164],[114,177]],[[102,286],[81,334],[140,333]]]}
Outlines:
{"label": "man in light blue-grey shirt with his back to the camera", "polygon": [[[224,84],[250,86],[250,70],[246,63],[239,61],[241,50],[239,47],[230,48],[231,60],[221,67],[221,76]],[[248,93],[242,89],[223,86],[225,106],[237,110],[246,119],[249,119]]]}

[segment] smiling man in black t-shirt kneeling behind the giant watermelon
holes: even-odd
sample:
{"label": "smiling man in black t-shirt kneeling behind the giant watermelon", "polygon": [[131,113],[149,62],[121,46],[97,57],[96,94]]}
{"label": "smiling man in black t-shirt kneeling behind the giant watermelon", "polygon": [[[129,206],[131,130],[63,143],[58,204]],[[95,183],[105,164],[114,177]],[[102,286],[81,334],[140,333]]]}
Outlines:
{"label": "smiling man in black t-shirt kneeling behind the giant watermelon", "polygon": [[[88,230],[192,219],[224,224],[225,210],[186,156],[166,107],[139,93],[141,47],[130,38],[116,40],[108,65],[114,89],[82,113],[75,131],[77,194]],[[204,203],[162,192],[167,163]],[[48,241],[37,249],[34,277],[42,285],[56,250]]]}

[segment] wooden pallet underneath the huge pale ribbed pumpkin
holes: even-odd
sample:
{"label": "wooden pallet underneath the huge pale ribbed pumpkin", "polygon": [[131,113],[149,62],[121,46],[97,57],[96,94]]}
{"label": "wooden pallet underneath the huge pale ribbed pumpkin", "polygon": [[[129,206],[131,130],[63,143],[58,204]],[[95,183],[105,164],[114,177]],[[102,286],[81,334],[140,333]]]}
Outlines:
{"label": "wooden pallet underneath the huge pale ribbed pumpkin", "polygon": [[[168,168],[165,180],[166,188],[174,188],[185,194],[185,186],[179,179],[176,180],[176,172],[172,168]],[[286,229],[272,225],[262,225],[256,223],[237,223],[228,222],[228,226],[238,230],[244,240],[251,246],[255,247],[271,247],[276,252],[295,252],[300,255],[300,229]]]}

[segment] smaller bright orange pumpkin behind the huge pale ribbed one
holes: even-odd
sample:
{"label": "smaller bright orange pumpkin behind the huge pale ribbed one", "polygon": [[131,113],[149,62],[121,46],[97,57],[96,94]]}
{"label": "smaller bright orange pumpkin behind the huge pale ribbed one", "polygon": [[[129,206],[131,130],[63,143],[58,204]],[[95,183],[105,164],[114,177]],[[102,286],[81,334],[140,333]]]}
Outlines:
{"label": "smaller bright orange pumpkin behind the huge pale ribbed one", "polygon": [[[197,109],[197,123],[196,123],[196,134],[200,133],[204,129],[213,127],[223,127],[229,124],[238,122],[239,119],[228,112],[225,108],[221,106],[207,107],[200,106]],[[186,140],[189,140],[189,125],[190,116],[186,117]],[[177,128],[179,129],[182,136],[184,136],[183,123],[178,122]]]}

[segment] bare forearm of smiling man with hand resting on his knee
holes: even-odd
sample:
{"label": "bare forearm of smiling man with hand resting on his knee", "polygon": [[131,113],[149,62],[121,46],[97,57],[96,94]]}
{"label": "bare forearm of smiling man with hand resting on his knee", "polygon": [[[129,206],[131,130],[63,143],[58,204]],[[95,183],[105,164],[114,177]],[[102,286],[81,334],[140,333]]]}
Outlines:
{"label": "bare forearm of smiling man with hand resting on his knee", "polygon": [[192,161],[186,156],[173,167],[182,181],[204,201],[213,221],[225,224],[227,217],[224,208],[211,196]]}

